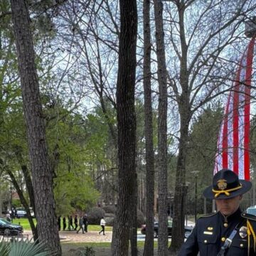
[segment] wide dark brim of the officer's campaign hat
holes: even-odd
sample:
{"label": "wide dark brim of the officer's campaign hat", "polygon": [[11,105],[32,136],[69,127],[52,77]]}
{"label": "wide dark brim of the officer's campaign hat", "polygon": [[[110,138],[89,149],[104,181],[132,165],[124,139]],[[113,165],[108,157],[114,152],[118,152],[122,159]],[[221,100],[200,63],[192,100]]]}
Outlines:
{"label": "wide dark brim of the officer's campaign hat", "polygon": [[217,198],[215,198],[215,193],[213,193],[213,186],[208,186],[203,191],[203,196],[208,199],[228,199],[233,198],[235,196],[242,195],[246,193],[247,191],[250,191],[250,188],[252,188],[252,183],[250,181],[245,180],[239,180],[240,184],[242,185],[242,188],[239,188],[237,191],[230,192],[230,196],[226,196],[225,193],[221,193]]}

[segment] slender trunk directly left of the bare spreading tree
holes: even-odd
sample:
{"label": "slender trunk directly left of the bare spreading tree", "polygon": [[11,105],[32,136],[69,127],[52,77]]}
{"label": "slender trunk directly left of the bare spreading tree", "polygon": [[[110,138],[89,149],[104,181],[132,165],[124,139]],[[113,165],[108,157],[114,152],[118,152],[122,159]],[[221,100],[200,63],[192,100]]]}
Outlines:
{"label": "slender trunk directly left of the bare spreading tree", "polygon": [[163,4],[154,0],[156,23],[157,77],[159,82],[159,119],[158,119],[158,186],[159,186],[159,239],[158,254],[168,252],[168,215],[167,215],[167,81],[164,48]]}

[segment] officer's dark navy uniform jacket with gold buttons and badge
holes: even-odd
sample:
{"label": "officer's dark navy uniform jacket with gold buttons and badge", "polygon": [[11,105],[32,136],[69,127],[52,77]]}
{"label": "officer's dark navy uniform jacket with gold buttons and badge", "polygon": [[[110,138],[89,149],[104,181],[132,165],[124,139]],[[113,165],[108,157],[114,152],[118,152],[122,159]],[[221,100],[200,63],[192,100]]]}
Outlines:
{"label": "officer's dark navy uniform jacket with gold buttons and badge", "polygon": [[[228,217],[218,212],[199,218],[193,232],[182,245],[179,256],[196,256],[198,252],[200,252],[201,256],[218,255],[221,246],[223,246],[226,238],[229,238],[236,225],[238,225],[238,233],[236,233],[224,255],[256,256],[254,235],[252,233],[248,235],[247,233],[247,220],[250,221],[250,226],[256,233],[255,216],[241,213],[240,209]],[[250,237],[249,244],[248,237]]]}

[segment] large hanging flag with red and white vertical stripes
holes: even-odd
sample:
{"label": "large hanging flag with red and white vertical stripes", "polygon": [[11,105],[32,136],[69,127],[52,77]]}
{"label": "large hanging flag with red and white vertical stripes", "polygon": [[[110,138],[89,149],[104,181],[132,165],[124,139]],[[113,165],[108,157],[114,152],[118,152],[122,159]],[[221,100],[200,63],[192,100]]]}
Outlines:
{"label": "large hanging flag with red and white vertical stripes", "polygon": [[214,174],[231,169],[250,180],[250,84],[255,37],[243,53],[220,126]]}

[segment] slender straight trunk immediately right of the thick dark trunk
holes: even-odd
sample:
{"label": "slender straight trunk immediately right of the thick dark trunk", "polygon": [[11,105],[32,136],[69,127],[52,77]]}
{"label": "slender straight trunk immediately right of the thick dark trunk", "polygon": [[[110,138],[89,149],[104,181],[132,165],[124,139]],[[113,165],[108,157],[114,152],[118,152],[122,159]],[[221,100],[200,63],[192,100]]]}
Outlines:
{"label": "slender straight trunk immediately right of the thick dark trunk", "polygon": [[143,1],[144,25],[144,112],[146,138],[146,239],[144,256],[154,256],[154,146],[153,117],[151,105],[151,42],[150,42],[150,1]]}

